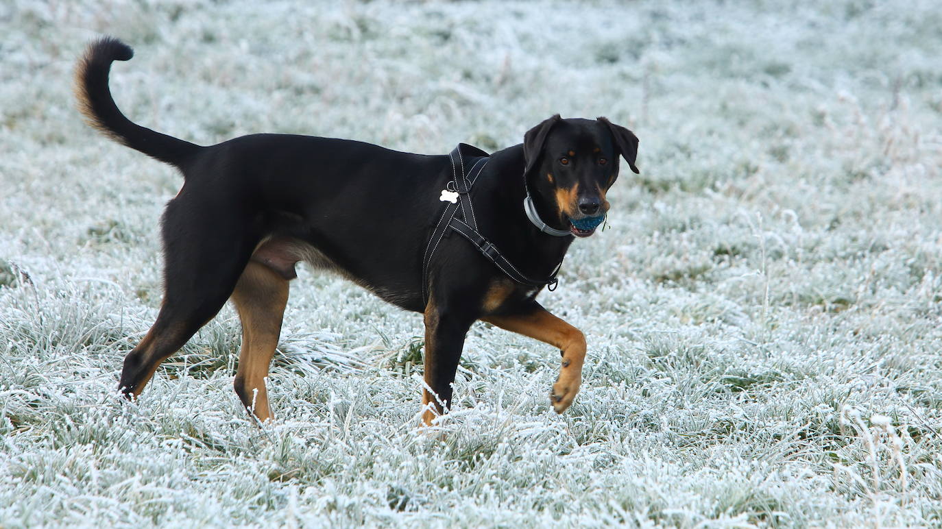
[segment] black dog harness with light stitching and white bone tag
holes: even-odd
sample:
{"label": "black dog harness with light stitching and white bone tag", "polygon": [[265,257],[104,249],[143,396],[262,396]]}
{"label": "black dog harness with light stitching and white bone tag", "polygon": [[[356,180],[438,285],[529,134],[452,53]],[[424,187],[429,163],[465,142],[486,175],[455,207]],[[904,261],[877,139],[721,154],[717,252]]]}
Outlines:
{"label": "black dog harness with light stitching and white bone tag", "polygon": [[[462,151],[471,153],[472,157],[469,157],[469,163],[474,159],[469,170],[465,170],[465,158]],[[438,244],[442,242],[442,238],[449,228],[461,233],[464,238],[484,254],[488,261],[494,263],[497,268],[500,268],[500,271],[513,281],[528,286],[545,286],[550,292],[556,290],[556,285],[559,282],[556,275],[560,272],[562,261],[556,265],[549,279],[543,281],[532,280],[520,270],[517,270],[516,266],[501,255],[497,251],[497,247],[478,231],[478,219],[475,218],[474,205],[471,203],[471,186],[474,185],[480,176],[480,172],[487,166],[489,154],[477,147],[459,143],[458,147],[455,147],[454,151],[448,154],[448,157],[451,160],[452,179],[446,184],[445,189],[442,189],[442,195],[439,197],[439,200],[448,202],[448,204],[445,206],[442,216],[438,219],[435,229],[431,232],[429,244],[426,246],[425,255],[422,258],[422,299],[426,302],[429,300],[429,264],[435,254],[435,249],[438,248]]]}

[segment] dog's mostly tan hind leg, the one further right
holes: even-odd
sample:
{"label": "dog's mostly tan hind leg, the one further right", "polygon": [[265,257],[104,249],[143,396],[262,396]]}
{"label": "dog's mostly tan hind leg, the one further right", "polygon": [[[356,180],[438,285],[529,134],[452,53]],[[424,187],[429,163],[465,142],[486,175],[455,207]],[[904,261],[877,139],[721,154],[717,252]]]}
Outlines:
{"label": "dog's mostly tan hind leg, the one further right", "polygon": [[272,417],[265,379],[282,330],[288,280],[264,264],[250,262],[232,296],[242,321],[242,350],[235,373],[235,393],[259,421]]}

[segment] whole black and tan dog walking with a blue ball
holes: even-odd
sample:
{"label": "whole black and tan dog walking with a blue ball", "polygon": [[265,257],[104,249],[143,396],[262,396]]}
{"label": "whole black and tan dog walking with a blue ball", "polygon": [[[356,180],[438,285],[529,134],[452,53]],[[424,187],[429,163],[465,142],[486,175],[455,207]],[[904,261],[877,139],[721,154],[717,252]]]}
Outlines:
{"label": "whole black and tan dog walking with a blue ball", "polygon": [[[468,217],[490,246],[451,233],[430,252],[447,207],[444,191],[454,188],[454,157],[314,136],[242,136],[210,147],[166,136],[125,118],[111,97],[111,62],[132,55],[119,40],[94,42],[75,85],[94,127],[184,175],[162,218],[163,303],[154,326],[124,359],[123,393],[137,396],[160,362],[231,298],[242,322],[235,392],[267,420],[264,379],[288,283],[295,264],[305,261],[425,314],[427,424],[451,403],[464,336],[476,320],[559,347],[562,364],[550,401],[560,413],[573,403],[585,337],[535,301],[541,286],[512,280],[485,250],[525,276],[555,275],[573,236],[592,234],[597,222],[591,220],[608,211],[605,195],[618,176],[618,156],[638,171],[634,134],[604,118],[544,120],[522,145],[476,164],[473,191],[463,200],[473,198]],[[484,153],[477,153],[480,162]],[[522,205],[528,196],[529,218]]]}

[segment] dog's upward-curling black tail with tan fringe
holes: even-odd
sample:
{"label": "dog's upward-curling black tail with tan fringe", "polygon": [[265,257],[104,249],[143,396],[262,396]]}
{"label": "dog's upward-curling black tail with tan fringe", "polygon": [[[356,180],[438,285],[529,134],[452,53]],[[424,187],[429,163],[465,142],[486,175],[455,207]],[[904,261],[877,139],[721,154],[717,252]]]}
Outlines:
{"label": "dog's upward-curling black tail with tan fringe", "polygon": [[142,127],[124,117],[108,89],[108,72],[115,60],[134,56],[130,46],[112,37],[89,44],[75,70],[78,109],[89,125],[106,136],[149,156],[182,168],[200,149],[199,145]]}

